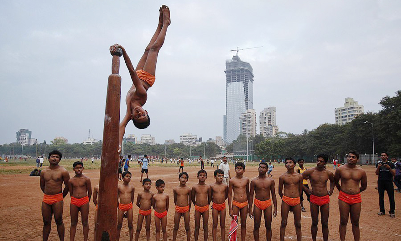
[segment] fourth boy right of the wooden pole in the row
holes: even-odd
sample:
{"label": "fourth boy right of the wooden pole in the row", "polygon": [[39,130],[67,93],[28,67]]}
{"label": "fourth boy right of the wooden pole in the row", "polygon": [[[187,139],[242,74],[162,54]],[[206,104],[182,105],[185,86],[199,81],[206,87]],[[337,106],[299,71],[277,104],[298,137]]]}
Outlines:
{"label": "fourth boy right of the wooden pole in the row", "polygon": [[181,216],[184,216],[186,240],[190,241],[191,230],[189,228],[189,210],[191,209],[192,190],[186,186],[186,182],[188,182],[188,173],[181,172],[178,175],[178,181],[180,181],[180,185],[176,186],[173,191],[174,204],[176,205],[176,211],[174,213],[173,241],[177,238]]}

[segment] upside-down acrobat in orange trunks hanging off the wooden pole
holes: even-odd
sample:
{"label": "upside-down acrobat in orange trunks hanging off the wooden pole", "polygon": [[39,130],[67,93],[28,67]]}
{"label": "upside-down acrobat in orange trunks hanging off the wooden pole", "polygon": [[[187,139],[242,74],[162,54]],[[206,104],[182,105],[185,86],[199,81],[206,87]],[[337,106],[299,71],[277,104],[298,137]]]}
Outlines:
{"label": "upside-down acrobat in orange trunks hanging off the wooden pole", "polygon": [[156,32],[139,60],[136,71],[126,50],[121,45],[115,44],[110,47],[111,53],[115,52],[117,48],[122,49],[122,54],[133,82],[126,96],[127,113],[119,127],[119,153],[121,152],[125,128],[130,120],[132,120],[138,129],[145,129],[150,124],[148,112],[142,106],[144,106],[148,99],[146,92],[154,84],[157,56],[164,43],[167,27],[171,22],[170,9],[167,6],[163,5],[160,7],[159,12],[159,23]]}

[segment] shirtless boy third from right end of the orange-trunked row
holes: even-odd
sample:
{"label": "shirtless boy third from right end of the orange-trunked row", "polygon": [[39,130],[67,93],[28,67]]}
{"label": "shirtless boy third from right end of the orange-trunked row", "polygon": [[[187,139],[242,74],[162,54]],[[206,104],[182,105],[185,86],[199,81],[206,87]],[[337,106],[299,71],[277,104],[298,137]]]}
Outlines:
{"label": "shirtless boy third from right end of the orange-trunked row", "polygon": [[[294,213],[294,225],[295,232],[297,234],[297,240],[302,240],[301,233],[301,199],[300,194],[302,192],[302,175],[294,172],[296,161],[292,157],[287,157],[284,160],[287,172],[282,174],[278,179],[278,194],[280,195],[281,202],[281,226],[280,226],[280,241],[284,241],[284,235],[286,234],[286,226],[288,219],[288,212]],[[284,194],[283,194],[284,185]]]}

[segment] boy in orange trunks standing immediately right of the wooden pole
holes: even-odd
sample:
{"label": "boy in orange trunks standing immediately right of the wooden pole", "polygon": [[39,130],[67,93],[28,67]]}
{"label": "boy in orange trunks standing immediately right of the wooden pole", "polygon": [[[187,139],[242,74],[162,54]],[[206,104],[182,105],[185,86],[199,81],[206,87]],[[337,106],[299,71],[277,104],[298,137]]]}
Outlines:
{"label": "boy in orange trunks standing immediately right of the wooden pole", "polygon": [[123,184],[118,185],[117,202],[117,241],[120,240],[121,228],[123,226],[124,212],[127,212],[128,229],[130,229],[130,241],[134,237],[134,228],[132,227],[132,203],[134,202],[135,188],[130,186],[131,173],[123,172]]}

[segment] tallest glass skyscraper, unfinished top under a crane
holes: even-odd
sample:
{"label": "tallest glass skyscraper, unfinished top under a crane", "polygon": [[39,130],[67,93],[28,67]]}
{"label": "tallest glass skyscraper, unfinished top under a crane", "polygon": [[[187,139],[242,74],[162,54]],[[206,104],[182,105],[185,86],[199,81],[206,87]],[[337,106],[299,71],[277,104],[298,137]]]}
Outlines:
{"label": "tallest glass skyscraper, unfinished top under a crane", "polygon": [[224,116],[224,140],[227,144],[240,134],[240,116],[253,109],[252,66],[241,61],[238,55],[226,60],[226,114]]}

